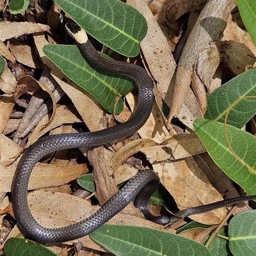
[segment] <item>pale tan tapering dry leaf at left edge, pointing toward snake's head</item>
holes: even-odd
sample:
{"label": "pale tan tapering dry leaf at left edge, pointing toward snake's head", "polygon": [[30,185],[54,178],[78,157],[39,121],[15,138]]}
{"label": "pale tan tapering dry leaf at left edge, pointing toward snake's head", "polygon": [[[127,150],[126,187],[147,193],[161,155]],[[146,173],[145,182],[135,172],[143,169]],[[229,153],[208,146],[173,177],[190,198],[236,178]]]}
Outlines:
{"label": "pale tan tapering dry leaf at left edge, pointing toward snake's head", "polygon": [[49,31],[50,29],[51,28],[49,26],[40,23],[1,21],[0,40],[4,42],[5,40],[13,37]]}

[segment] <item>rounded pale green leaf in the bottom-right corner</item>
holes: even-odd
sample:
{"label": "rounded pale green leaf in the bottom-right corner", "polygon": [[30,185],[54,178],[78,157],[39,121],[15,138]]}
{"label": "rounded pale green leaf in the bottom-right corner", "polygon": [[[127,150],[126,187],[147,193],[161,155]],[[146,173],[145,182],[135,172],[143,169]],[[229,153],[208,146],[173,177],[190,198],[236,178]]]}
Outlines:
{"label": "rounded pale green leaf in the bottom-right corner", "polygon": [[228,225],[229,248],[234,256],[256,254],[256,211],[241,212]]}

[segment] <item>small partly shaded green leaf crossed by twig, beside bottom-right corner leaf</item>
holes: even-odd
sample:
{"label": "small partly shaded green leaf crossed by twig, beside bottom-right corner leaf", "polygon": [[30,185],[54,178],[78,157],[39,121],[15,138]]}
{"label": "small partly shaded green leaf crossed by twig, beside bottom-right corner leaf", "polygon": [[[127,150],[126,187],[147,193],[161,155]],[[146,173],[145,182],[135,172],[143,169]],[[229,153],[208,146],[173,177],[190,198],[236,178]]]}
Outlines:
{"label": "small partly shaded green leaf crossed by twig, beside bottom-right corner leaf", "polygon": [[[228,239],[228,228],[221,228],[218,234],[220,234],[221,236],[225,236]],[[232,253],[228,248],[227,239],[218,236],[214,237],[212,243],[209,246],[209,250],[211,251],[212,256],[232,256]]]}

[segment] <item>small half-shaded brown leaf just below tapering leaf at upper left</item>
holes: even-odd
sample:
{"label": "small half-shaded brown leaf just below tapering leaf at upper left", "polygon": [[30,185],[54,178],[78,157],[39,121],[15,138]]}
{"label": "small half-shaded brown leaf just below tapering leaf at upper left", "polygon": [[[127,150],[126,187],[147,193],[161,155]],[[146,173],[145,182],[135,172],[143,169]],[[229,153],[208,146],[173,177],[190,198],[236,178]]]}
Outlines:
{"label": "small half-shaded brown leaf just below tapering leaf at upper left", "polygon": [[31,68],[42,69],[41,61],[38,58],[35,49],[15,40],[14,38],[10,40],[10,49],[13,56],[15,56],[15,59],[19,61],[19,63]]}

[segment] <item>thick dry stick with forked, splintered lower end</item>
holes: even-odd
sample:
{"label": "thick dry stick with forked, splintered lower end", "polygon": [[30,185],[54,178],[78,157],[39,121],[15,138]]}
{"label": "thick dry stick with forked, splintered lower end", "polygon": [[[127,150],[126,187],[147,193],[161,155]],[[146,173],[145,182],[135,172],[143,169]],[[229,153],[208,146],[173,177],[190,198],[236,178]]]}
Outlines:
{"label": "thick dry stick with forked, splintered lower end", "polygon": [[200,13],[180,56],[168,124],[173,116],[179,115],[190,84],[204,113],[205,86],[211,84],[212,76],[219,65],[218,42],[227,26],[228,15],[233,6],[233,0],[209,0]]}

